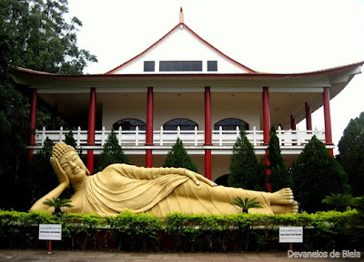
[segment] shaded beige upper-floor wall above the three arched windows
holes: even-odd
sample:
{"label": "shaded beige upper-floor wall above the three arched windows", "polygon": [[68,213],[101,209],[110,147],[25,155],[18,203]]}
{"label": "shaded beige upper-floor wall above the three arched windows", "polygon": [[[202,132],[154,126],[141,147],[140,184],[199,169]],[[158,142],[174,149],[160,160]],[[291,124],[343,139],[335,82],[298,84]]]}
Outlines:
{"label": "shaded beige upper-floor wall above the three arched windows", "polygon": [[[211,94],[212,125],[226,118],[248,122],[250,130],[260,129],[261,102],[259,93],[213,92]],[[241,100],[239,96],[247,96]],[[147,121],[147,93],[117,93],[103,97],[103,126],[106,130],[121,119],[136,118]],[[203,92],[170,92],[154,94],[154,130],[175,118],[196,121],[199,130],[205,130],[205,104]],[[213,126],[212,126],[213,128]]]}

